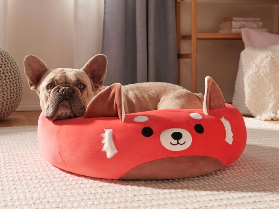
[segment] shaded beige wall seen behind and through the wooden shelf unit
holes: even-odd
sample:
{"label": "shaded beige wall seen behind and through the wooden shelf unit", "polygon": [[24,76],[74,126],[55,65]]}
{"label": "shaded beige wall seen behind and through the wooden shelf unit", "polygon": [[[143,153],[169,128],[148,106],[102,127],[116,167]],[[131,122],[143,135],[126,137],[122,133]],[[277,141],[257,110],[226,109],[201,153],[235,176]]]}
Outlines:
{"label": "shaded beige wall seen behind and through the wooden shelf unit", "polygon": [[[257,1],[265,2],[264,0]],[[198,32],[218,32],[219,23],[224,17],[242,16],[260,17],[268,32],[278,32],[278,4],[209,2],[216,2],[216,0],[198,1]],[[232,1],[223,0],[223,2]],[[191,3],[180,3],[180,9],[181,35],[190,35]],[[197,92],[204,92],[204,78],[209,75],[218,83],[226,102],[231,102],[242,50],[244,50],[242,40],[197,40]],[[183,40],[180,42],[180,53],[191,53],[191,41]],[[181,59],[180,70],[180,84],[191,90],[191,59]]]}

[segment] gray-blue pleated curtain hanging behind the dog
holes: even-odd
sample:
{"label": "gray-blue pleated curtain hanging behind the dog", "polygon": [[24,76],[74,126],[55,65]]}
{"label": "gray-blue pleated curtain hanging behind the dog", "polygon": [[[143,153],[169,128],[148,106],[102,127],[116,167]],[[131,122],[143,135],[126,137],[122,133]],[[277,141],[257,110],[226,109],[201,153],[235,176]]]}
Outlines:
{"label": "gray-blue pleated curtain hanging behind the dog", "polygon": [[102,53],[105,85],[177,83],[174,0],[105,0]]}

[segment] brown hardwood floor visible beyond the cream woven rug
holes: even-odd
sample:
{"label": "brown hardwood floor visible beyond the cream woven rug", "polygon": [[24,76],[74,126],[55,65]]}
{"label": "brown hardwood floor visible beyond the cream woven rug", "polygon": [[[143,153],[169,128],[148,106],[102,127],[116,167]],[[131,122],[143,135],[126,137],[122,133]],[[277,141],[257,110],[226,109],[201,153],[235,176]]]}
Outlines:
{"label": "brown hardwood floor visible beyond the cream woven rug", "polygon": [[[37,126],[41,111],[13,112],[10,116],[0,119],[0,127]],[[279,121],[267,121],[279,124]]]}

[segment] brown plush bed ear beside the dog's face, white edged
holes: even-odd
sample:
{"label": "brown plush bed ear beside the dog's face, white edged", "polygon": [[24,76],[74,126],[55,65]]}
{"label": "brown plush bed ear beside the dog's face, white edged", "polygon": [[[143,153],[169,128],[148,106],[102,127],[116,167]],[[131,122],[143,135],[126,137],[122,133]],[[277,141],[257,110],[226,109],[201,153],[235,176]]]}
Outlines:
{"label": "brown plush bed ear beside the dog's face, white edged", "polygon": [[87,105],[84,118],[116,117],[124,121],[122,85],[114,83],[98,93]]}

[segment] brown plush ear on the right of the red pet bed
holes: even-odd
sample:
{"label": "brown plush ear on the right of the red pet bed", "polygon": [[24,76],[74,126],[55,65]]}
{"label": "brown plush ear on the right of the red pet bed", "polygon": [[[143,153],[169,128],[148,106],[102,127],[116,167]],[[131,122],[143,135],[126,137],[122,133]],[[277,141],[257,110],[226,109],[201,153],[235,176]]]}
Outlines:
{"label": "brown plush ear on the right of the red pet bed", "polygon": [[203,99],[203,112],[208,115],[210,109],[218,109],[225,107],[224,96],[215,81],[209,77],[205,77],[205,92]]}

